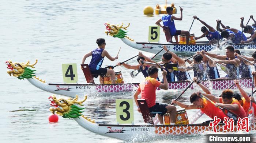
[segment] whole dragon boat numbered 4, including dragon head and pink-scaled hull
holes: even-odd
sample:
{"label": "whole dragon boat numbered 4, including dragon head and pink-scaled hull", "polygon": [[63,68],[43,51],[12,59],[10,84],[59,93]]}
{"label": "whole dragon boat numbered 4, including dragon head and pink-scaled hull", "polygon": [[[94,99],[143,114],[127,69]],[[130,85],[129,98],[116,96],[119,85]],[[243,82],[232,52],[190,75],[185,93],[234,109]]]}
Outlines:
{"label": "whole dragon boat numbered 4, including dragon head and pink-scaled hull", "polygon": [[[131,92],[137,89],[139,83],[124,83],[124,84],[61,84],[61,83],[46,83],[45,80],[39,79],[35,76],[34,64],[27,63],[13,63],[11,60],[5,62],[7,64],[7,73],[18,79],[27,79],[35,87],[58,95],[75,97],[75,95],[83,95],[84,93],[90,95],[96,93],[113,93],[113,92]],[[31,68],[30,68],[31,67]],[[251,88],[251,78],[240,79],[240,83],[244,88]],[[178,81],[168,83],[169,89],[184,89],[189,85],[190,81]],[[216,79],[203,81],[202,84],[212,90],[224,90],[233,84],[231,79]],[[193,86],[191,86],[193,89]],[[236,87],[233,87],[236,88]],[[157,88],[160,90],[160,88]]]}

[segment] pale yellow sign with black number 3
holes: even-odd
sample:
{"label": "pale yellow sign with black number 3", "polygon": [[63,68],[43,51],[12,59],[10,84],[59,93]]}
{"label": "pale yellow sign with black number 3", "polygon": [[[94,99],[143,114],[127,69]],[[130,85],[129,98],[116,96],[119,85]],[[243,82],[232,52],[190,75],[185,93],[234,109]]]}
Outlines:
{"label": "pale yellow sign with black number 3", "polygon": [[118,124],[134,123],[132,99],[116,99],[116,121]]}

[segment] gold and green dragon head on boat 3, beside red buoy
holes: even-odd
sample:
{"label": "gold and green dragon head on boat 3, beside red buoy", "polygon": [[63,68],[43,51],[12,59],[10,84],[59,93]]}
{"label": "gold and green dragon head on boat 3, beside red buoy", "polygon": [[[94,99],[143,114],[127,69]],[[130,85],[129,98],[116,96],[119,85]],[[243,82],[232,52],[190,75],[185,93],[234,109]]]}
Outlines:
{"label": "gold and green dragon head on boat 3, beside red buoy", "polygon": [[51,102],[51,106],[53,106],[53,108],[50,108],[50,111],[52,112],[52,114],[55,114],[55,112],[62,116],[63,118],[79,118],[79,116],[81,116],[84,108],[79,108],[78,106],[74,105],[79,104],[81,106],[83,106],[83,102],[87,99],[87,96],[84,96],[84,99],[81,101],[77,101],[78,100],[78,95],[76,95],[76,97],[74,99],[71,100],[71,98],[68,99],[64,99],[64,98],[60,98],[57,99],[56,96],[50,96],[48,98]]}

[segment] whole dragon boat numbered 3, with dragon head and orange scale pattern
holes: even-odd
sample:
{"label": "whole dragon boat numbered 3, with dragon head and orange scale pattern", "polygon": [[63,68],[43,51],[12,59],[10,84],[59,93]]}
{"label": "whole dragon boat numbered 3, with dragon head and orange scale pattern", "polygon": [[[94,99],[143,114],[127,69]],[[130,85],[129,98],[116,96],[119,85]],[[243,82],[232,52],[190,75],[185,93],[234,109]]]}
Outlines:
{"label": "whole dragon boat numbered 3, with dragon head and orange scale pattern", "polygon": [[[170,135],[185,135],[185,134],[202,134],[206,131],[214,131],[214,127],[209,124],[184,124],[184,125],[154,125],[154,124],[97,124],[88,116],[82,114],[84,108],[80,108],[75,104],[83,105],[82,103],[87,99],[78,100],[78,96],[71,99],[60,98],[57,99],[54,95],[49,97],[51,100],[50,111],[53,114],[58,114],[63,118],[74,119],[84,129],[94,132],[95,134],[116,138],[120,140],[144,140],[152,139]],[[224,124],[216,126],[217,132],[236,132],[238,128],[235,126],[234,130],[223,130]],[[249,131],[256,130],[256,124],[249,126]]]}

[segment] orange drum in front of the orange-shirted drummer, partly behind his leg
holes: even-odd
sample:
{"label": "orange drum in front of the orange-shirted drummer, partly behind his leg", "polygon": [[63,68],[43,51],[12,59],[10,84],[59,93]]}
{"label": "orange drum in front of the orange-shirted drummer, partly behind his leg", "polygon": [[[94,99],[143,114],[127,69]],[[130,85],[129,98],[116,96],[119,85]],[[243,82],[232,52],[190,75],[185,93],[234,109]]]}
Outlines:
{"label": "orange drum in front of the orange-shirted drummer, partly behind his leg", "polygon": [[[164,115],[164,123],[165,125],[169,125],[170,122],[170,112],[166,113]],[[175,120],[175,124],[189,124],[189,120],[188,120],[188,115],[187,115],[187,111],[184,110],[179,110],[176,111],[176,120]]]}

